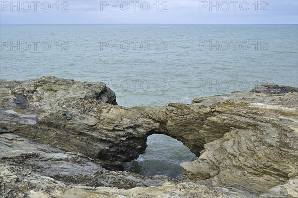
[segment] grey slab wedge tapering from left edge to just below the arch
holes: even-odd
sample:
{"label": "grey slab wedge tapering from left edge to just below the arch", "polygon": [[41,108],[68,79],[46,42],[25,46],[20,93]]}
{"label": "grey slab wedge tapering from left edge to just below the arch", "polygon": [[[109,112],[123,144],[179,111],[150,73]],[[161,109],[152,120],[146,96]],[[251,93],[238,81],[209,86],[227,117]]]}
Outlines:
{"label": "grey slab wedge tapering from left edge to just below the arch", "polygon": [[165,176],[145,177],[123,171],[108,171],[92,158],[13,133],[0,134],[0,142],[3,166],[20,166],[41,177],[52,177],[67,184],[131,189],[177,181]]}

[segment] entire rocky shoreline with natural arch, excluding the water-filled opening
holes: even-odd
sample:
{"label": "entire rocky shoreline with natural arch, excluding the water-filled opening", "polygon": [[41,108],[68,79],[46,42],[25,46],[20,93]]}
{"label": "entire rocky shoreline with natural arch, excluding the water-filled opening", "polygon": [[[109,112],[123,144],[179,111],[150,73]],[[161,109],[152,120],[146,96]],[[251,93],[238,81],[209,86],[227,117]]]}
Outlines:
{"label": "entire rocky shoreline with natural arch, excluding the water-filled opening", "polygon": [[[0,81],[1,198],[297,198],[298,88],[118,106],[100,82]],[[199,159],[179,179],[122,170],[153,133]]]}

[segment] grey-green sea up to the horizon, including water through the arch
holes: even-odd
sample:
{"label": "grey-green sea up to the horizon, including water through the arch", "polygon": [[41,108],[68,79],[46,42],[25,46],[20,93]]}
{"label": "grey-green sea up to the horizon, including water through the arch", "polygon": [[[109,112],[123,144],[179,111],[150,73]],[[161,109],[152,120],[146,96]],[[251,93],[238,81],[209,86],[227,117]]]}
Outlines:
{"label": "grey-green sea up to the horizon, including water through the arch", "polygon": [[[266,82],[298,86],[297,24],[1,24],[0,42],[1,80],[102,81],[125,107],[191,103]],[[166,135],[147,144],[125,170],[177,177],[180,163],[197,159]]]}

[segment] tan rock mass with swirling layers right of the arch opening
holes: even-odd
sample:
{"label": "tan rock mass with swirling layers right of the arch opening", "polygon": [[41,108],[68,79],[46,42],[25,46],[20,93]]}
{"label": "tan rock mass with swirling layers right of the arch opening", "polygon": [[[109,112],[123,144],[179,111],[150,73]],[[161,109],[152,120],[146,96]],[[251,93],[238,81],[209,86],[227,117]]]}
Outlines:
{"label": "tan rock mass with swirling layers right of the arch opening", "polygon": [[[241,184],[259,192],[286,183],[298,168],[298,94],[238,92],[219,96],[200,133],[205,150],[182,164],[189,178]],[[204,105],[205,100],[193,101]]]}

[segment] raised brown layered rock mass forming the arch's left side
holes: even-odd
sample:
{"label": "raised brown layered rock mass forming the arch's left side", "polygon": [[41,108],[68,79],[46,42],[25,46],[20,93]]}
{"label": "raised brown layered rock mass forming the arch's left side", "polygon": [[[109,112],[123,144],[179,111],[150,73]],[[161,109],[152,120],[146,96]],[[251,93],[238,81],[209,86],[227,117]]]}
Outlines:
{"label": "raised brown layered rock mass forming the arch's left side", "polygon": [[113,105],[115,93],[100,82],[53,76],[1,81],[0,96],[1,132],[79,150],[110,170],[144,153],[147,133],[158,126],[133,109]]}

